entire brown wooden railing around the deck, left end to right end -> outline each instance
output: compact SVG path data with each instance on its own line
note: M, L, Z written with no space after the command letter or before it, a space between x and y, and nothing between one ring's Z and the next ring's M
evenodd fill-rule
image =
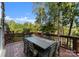
M70 49L75 53L79 53L79 37L76 36L57 35L57 34L49 34L49 33L35 33L35 32L34 33L6 33L5 42L9 40L13 41L15 37L19 37L19 39L21 38L22 40L24 35L29 35L29 34L35 34L37 36L48 38L50 40L61 41L61 47Z

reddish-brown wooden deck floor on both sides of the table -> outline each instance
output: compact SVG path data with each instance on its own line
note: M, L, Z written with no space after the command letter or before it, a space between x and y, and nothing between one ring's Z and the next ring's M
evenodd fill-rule
M5 46L6 48L6 57L25 57L23 53L23 41L10 43ZM66 50L64 48L60 48L60 56L59 57L78 57L70 50Z

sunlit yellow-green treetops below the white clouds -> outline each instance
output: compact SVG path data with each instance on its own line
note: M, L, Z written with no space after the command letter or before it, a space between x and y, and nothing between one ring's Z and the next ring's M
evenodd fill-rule
M31 32L37 32L40 29L40 25L35 23L24 23L24 24L19 24L14 21L8 22L10 31L14 31L14 33L22 33L24 29L29 29ZM27 30L26 30L27 31Z

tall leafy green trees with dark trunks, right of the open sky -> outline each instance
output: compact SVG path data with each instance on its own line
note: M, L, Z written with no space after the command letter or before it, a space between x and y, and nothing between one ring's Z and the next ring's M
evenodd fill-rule
M48 2L39 4L35 4L34 7L36 8L36 11L34 11L34 13L36 14L36 22L39 23L42 21L40 23L41 31L58 32L58 34L63 33L65 35L73 35L78 32L79 21L76 17L79 16L79 3ZM74 28L73 26L75 25L73 23L76 24L76 27ZM73 30L75 28L77 29Z

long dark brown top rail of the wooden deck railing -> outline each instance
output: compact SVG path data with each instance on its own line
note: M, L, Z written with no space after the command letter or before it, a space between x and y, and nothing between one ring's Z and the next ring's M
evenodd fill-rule
M47 36L56 36L56 37L63 37L63 38L71 38L71 39L79 39L78 36L68 36L68 35L58 35L58 34L51 34L51 33L41 33L41 32L30 32L30 33L8 33L8 34L43 34L43 35L47 35Z

